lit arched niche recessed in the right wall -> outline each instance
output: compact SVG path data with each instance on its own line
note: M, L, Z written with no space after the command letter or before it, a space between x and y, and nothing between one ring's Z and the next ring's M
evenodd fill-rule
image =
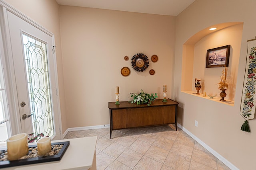
M211 27L218 29L210 31ZM218 101L220 90L217 83L222 74L222 67L206 68L207 49L213 49L224 45L231 45L230 59L228 66L228 90L227 102L225 104L234 105L236 78L240 57L240 47L242 41L242 22L228 22L211 25L190 37L183 45L182 51L182 79L181 91L194 96L203 97L206 94L217 94L214 101ZM201 79L201 95L195 95L195 78ZM210 97L206 96L206 99Z

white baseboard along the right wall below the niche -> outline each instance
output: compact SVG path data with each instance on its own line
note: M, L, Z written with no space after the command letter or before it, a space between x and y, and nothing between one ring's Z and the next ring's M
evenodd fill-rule
M206 150L208 150L211 154L213 154L216 158L218 158L221 162L223 162L226 166L228 166L228 168L230 168L231 170L239 170L236 166L234 166L231 162L229 162L228 160L226 160L226 158L224 158L223 156L221 156L218 152L216 152L215 150L213 150L211 147L209 147L208 145L206 145L203 141L201 141L198 137L196 137L195 135L193 135L190 131L188 131L186 128L184 128L182 125L178 124L178 127L180 127L180 129L182 129L182 131L184 131L185 133L187 133L188 135L190 135L190 137L192 137L195 141L197 141L200 145L202 145Z

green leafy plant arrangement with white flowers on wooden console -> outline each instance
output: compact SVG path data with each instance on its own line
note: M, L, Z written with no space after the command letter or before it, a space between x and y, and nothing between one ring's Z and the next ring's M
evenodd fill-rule
M131 97L133 97L133 100L129 101L131 103L136 103L136 104L150 104L154 102L154 100L157 98L157 93L155 94L148 94L145 93L143 90L140 90L140 93L130 93Z

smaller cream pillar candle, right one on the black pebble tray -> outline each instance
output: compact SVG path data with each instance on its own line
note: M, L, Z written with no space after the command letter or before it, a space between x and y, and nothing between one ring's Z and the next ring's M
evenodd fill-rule
M44 137L37 141L37 154L45 155L46 153L52 150L51 139L50 137Z

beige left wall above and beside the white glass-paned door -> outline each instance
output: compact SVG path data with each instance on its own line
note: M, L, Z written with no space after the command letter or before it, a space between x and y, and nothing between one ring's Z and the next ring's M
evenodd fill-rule
M4 0L39 25L54 33L57 57L57 71L60 94L62 131L66 131L66 108L62 72L62 51L60 41L59 5L55 0Z

